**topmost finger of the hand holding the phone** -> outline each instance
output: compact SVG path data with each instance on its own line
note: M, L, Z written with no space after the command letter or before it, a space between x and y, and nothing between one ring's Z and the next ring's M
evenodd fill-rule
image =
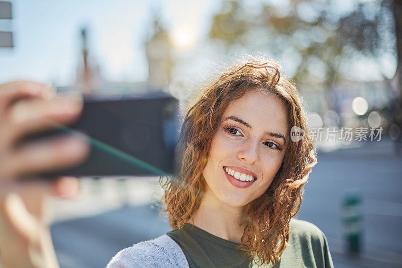
M38 97L51 99L55 95L52 87L32 81L15 81L0 85L0 114L16 99Z

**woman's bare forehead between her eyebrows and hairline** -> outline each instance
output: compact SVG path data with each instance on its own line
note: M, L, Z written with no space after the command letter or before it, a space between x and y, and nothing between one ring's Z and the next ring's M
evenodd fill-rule
M223 119L237 116L253 128L264 127L287 136L288 118L282 100L271 93L260 91L247 92L242 98L229 103Z

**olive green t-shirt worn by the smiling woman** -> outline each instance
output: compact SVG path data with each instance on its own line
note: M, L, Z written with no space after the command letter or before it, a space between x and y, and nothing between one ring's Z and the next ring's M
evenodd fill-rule
M192 267L333 267L327 238L314 224L291 219L289 241L275 266L257 266L239 243L215 236L192 224L167 233L180 245Z

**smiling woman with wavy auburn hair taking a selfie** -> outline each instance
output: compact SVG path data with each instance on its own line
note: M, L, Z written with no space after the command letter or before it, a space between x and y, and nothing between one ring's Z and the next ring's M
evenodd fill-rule
M78 115L77 103L69 117L64 113L55 118L54 111L47 111L37 118L51 117L67 123ZM18 109L12 109L13 115L18 114L15 110ZM296 88L280 75L275 63L253 60L222 74L187 110L179 139L181 169L177 178L163 182L166 211L173 230L123 249L108 267L333 266L324 234L308 222L292 219L302 201L303 186L317 162L308 135L292 141L290 129L294 126L308 134ZM53 165L42 162L41 169L71 165L82 159L87 147L77 140L69 142L76 145L75 151L70 151L71 159L63 163L54 161ZM62 142L54 141L47 144L49 148L53 146L48 156L56 145L59 150L67 150ZM31 169L20 169L29 172L38 163L34 165L29 149L25 150L28 157L22 159L27 159L24 163ZM15 185L21 170L2 175L3 184L6 181L3 177L9 177L7 181L13 182L9 184ZM62 182L66 178L58 181L53 191L59 189L58 194L64 195L62 191L72 191L72 187L62 187ZM41 203L43 193L50 191L49 186L36 187L39 194L35 197ZM20 190L23 187L18 189L21 196L26 194ZM18 217L12 219L9 207L14 202L24 208L23 202L16 202L16 195L3 196L6 201L2 201L5 204L2 207L6 210L2 212L0 226L15 233L14 239L23 241L20 249L28 252L26 263L32 263L34 255L49 267L57 265L50 239L35 235L21 238L29 233L26 230L29 228L19 226ZM38 229L48 234L45 225L37 224L40 221L32 219L32 214L25 213L35 226L40 226ZM4 244L1 240L0 252ZM13 263L12 257L5 262L3 254L0 256L3 263Z

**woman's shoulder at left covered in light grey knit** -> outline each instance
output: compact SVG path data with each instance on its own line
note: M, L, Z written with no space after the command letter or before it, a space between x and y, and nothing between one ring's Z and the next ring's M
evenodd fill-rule
M107 268L188 267L180 246L168 235L143 241L119 251Z

